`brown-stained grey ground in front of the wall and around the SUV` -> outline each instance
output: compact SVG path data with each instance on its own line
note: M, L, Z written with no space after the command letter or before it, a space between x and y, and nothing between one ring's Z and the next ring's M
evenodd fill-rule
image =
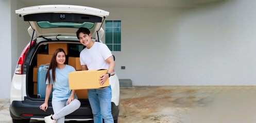
M118 121L256 122L255 95L255 86L121 88ZM0 122L11 122L8 101L0 100Z

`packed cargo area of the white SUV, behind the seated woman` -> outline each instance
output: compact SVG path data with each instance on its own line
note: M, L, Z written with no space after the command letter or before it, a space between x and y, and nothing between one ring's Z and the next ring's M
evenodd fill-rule
M35 49L30 50L31 52L34 52L28 70L27 80L27 96L29 96L31 100L44 100L45 91L41 90L41 88L46 87L45 75L40 74L39 67L47 66L47 64L49 65L54 51L58 48L64 49L66 53L65 62L67 65L74 67L76 71L81 70L79 54L84 46L79 42L58 40L56 42L52 41L36 44ZM40 77L44 78L41 79ZM88 99L87 90L78 90L76 91L76 94L78 99Z

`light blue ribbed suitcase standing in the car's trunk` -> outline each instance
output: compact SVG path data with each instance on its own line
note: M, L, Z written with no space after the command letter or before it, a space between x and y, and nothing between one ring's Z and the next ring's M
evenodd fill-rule
M41 65L38 68L38 86L37 86L37 96L38 98L45 98L45 91L46 91L46 84L45 84L45 77L47 70L49 68L49 65ZM50 93L50 97L53 97L53 89L52 92Z

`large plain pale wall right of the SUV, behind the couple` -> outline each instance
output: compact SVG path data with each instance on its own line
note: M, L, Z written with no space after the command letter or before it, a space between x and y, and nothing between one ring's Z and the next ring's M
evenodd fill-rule
M118 77L135 86L256 85L255 2L105 8L107 19L122 20L122 51L113 52Z

